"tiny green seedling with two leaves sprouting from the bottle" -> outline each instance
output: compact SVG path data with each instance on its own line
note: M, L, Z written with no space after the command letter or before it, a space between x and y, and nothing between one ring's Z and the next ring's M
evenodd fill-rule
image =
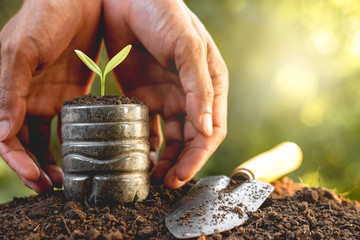
M106 75L111 72L117 65L119 65L127 57L131 49L131 45L124 47L118 54L116 54L106 65L104 73L101 71L98 65L94 63L85 53L80 50L75 50L81 61L85 63L88 68L100 76L101 81L101 96L105 95L105 78Z

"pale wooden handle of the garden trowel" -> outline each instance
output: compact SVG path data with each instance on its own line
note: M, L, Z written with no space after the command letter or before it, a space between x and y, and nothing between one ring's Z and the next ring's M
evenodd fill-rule
M293 142L283 142L238 166L231 177L242 176L270 183L297 169L301 162L300 147Z

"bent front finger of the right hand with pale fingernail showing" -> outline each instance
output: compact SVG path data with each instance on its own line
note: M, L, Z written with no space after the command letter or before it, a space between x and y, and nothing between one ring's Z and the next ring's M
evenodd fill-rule
M178 39L175 62L186 94L186 112L194 127L205 136L213 133L214 89L208 70L206 46L195 31Z

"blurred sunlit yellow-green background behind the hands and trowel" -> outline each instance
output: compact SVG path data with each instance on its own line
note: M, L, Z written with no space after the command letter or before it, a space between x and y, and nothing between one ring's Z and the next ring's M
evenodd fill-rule
M1 27L21 2L0 0ZM197 177L229 175L244 160L289 140L304 153L292 179L360 200L360 2L185 2L213 36L230 73L228 135ZM103 67L104 51L100 61ZM117 92L113 80L107 86L108 93ZM93 88L99 89L98 79ZM59 145L53 149L60 156ZM30 193L0 161L0 202Z

